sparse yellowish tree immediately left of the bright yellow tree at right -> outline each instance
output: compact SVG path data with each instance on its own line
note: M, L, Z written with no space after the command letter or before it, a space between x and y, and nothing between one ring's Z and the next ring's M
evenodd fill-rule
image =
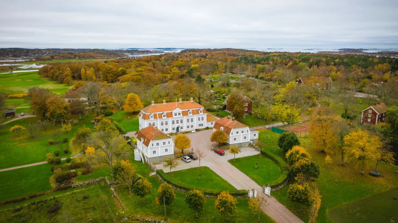
M341 154L341 165L344 165L344 154L346 153L345 136L349 133L349 127L344 121L333 123L330 135L326 139L326 153L336 155Z

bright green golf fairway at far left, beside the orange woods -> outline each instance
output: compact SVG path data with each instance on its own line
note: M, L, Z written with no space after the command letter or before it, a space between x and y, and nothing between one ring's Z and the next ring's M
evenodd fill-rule
M37 71L0 73L0 90L6 94L26 93L29 88L34 86L48 88L59 96L64 95L72 87L72 85L67 86L47 78L41 78L37 75Z

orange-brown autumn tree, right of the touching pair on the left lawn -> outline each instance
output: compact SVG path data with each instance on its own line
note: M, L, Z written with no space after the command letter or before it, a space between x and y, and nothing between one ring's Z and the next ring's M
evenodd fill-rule
M63 98L52 96L46 100L46 104L48 107L47 117L53 120L53 125L55 125L55 121L67 119L70 115L69 103L65 102Z

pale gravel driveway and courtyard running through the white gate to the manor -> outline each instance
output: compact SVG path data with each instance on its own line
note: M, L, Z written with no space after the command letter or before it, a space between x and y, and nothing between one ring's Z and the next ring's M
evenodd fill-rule
M262 194L262 187L254 182L246 174L242 173L239 169L228 163L228 160L233 159L234 155L228 152L224 156L219 156L210 149L217 145L217 142L212 143L209 137L213 131L211 129L205 131L199 131L196 133L186 134L191 138L191 147L193 151L197 148L201 152L206 154L206 157L201 160L201 166L207 166L217 173L220 177L228 181L236 189L252 190L253 188L258 192L259 196L265 196ZM174 138L175 136L172 136ZM191 152L187 149L185 152ZM242 148L242 152L236 155L236 158L244 156L252 156L259 154L258 151L253 150L249 147ZM199 167L199 160L193 160L189 163L185 163L179 160L179 166L175 170L188 169L191 167ZM156 165L156 168L163 169L168 172L170 169L163 168L162 164ZM272 194L272 193L271 193ZM268 206L263 210L269 217L274 219L277 223L298 223L302 222L296 215L289 211L285 206L279 203L274 197L267 198Z

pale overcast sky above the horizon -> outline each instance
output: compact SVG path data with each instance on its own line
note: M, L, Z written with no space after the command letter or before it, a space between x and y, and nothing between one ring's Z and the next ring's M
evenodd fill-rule
M398 47L397 0L0 0L0 47Z

